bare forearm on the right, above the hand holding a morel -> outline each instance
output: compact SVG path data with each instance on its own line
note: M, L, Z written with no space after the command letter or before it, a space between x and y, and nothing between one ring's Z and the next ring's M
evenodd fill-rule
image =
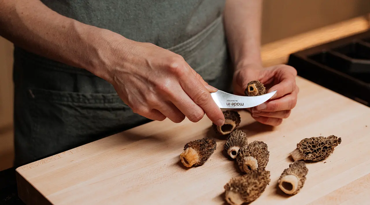
M262 0L226 0L225 31L235 68L262 64Z

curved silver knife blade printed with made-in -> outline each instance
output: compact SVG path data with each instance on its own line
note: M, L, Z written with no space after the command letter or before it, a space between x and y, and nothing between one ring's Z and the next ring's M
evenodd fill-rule
M223 92L222 90L217 90L216 92L211 93L211 96L220 108L240 109L258 106L269 100L276 91L277 90L259 96L239 96Z

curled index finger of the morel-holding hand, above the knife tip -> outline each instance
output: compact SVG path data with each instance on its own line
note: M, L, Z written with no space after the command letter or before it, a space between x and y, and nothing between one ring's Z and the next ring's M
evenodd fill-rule
M271 99L281 98L296 89L296 76L291 72L281 72L279 79L280 82L268 90L268 92L277 90Z

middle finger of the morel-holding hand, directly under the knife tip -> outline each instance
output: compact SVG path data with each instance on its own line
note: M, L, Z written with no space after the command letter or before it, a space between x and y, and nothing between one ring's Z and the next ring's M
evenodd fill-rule
M261 105L258 105L256 108L262 112L276 112L281 110L291 110L297 104L297 91L293 91L289 95L286 95L282 98L270 100Z

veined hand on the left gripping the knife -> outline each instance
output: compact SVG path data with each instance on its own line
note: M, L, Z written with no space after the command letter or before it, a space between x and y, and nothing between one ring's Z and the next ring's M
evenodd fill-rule
M206 114L221 126L225 118L213 101L208 85L181 57L151 43L112 35L103 49L104 74L118 95L141 116L175 123L185 116L198 122Z

